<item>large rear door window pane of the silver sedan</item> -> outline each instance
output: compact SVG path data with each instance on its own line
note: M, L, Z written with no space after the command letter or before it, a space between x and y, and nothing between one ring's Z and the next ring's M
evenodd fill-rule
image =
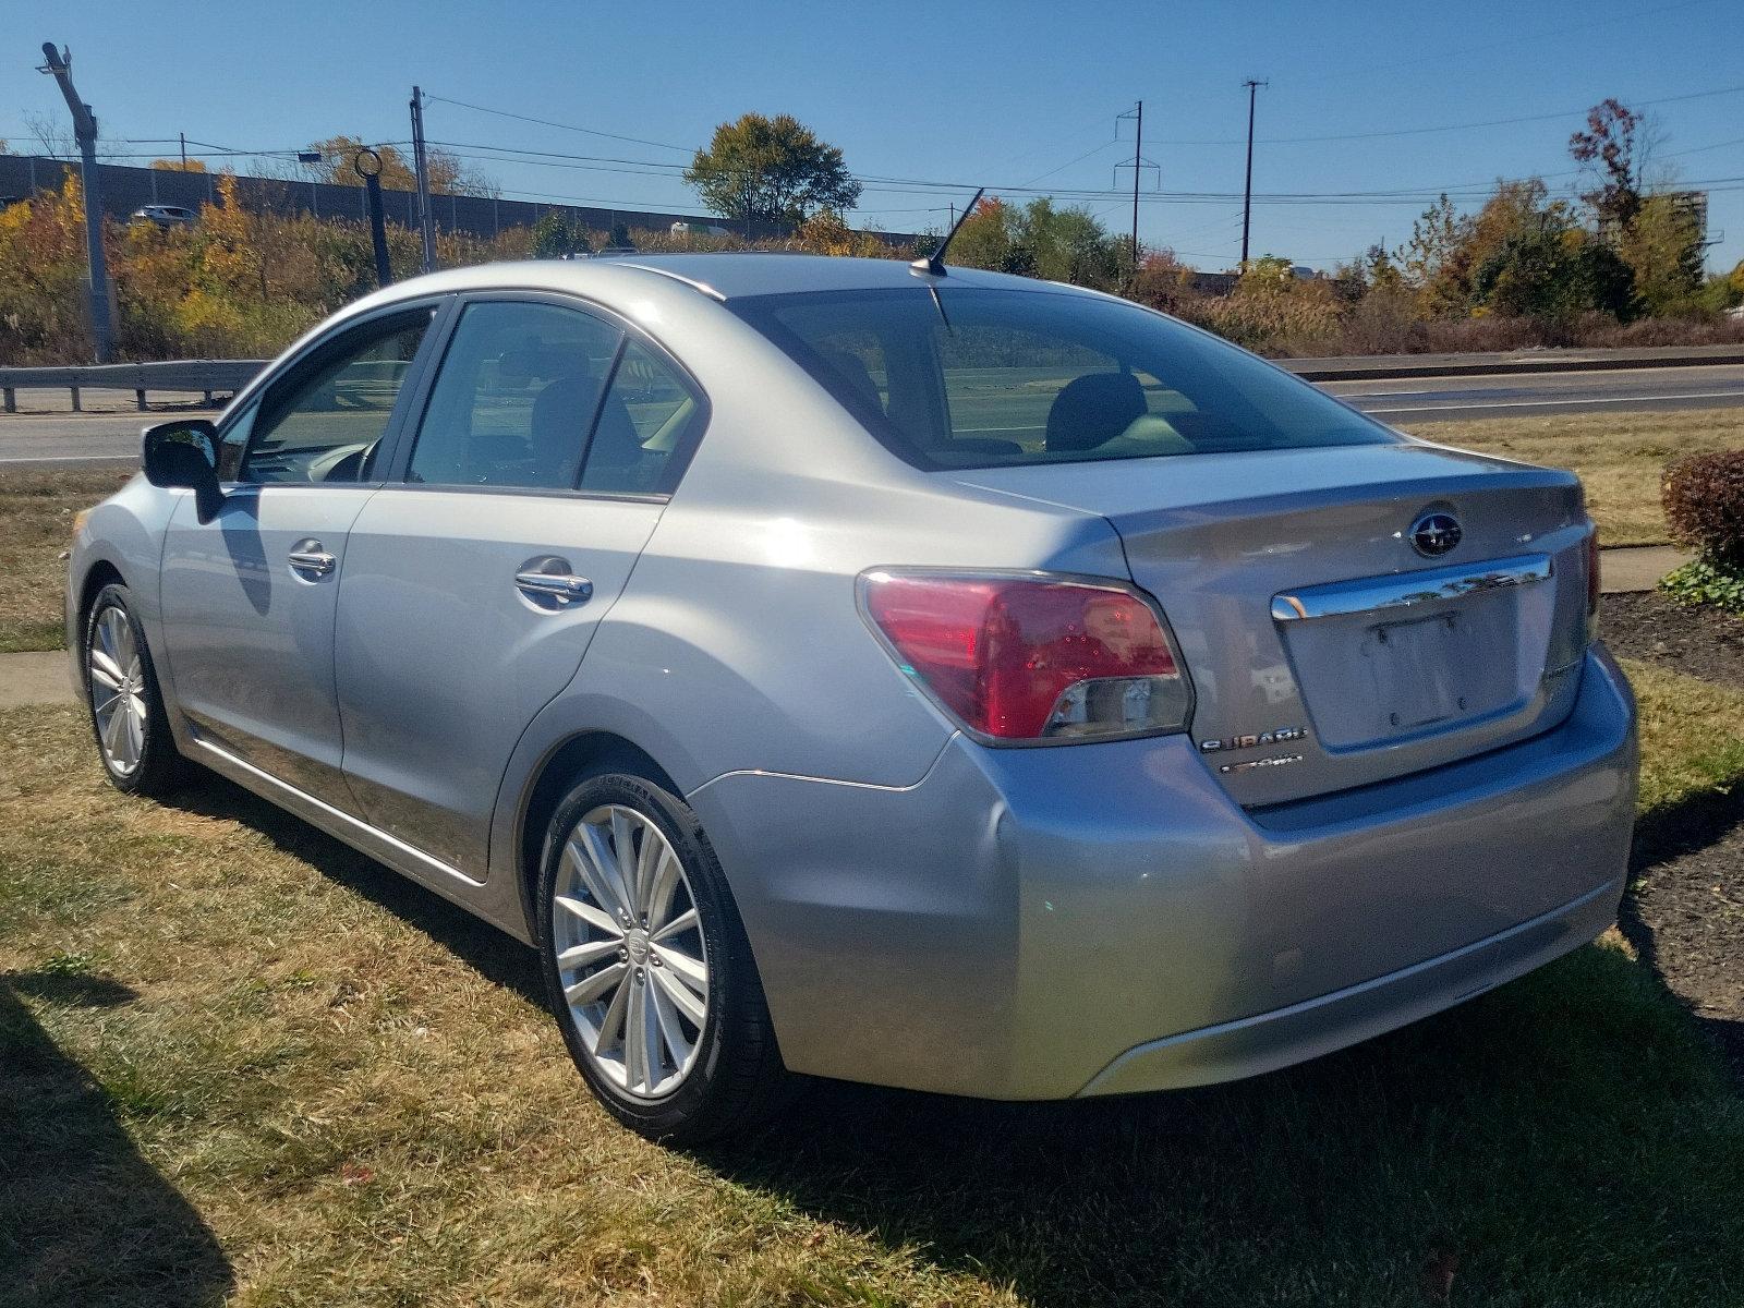
M467 305L431 389L408 480L572 490L621 338L577 309Z

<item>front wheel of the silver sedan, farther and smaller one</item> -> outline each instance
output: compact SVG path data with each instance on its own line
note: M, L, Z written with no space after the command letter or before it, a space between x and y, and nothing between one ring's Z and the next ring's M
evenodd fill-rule
M98 591L85 614L80 670L98 757L113 787L146 799L174 790L187 764L169 731L145 628L119 582Z

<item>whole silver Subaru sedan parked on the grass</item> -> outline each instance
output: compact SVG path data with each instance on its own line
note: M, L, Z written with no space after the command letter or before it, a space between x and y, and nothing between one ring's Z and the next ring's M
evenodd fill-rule
M1132 303L508 263L145 434L72 553L126 792L201 764L539 950L699 1141L799 1076L1252 1076L1592 940L1634 706L1568 473Z

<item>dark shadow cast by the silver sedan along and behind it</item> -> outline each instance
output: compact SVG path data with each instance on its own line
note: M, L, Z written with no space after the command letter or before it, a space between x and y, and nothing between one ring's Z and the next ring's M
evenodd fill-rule
M530 950L300 820L216 778L178 802L539 1001ZM1697 828L1646 835L1669 849ZM1744 1109L1652 966L1604 947L1254 1081L1067 1104L818 1083L698 1160L1045 1308L1744 1296ZM875 1277L820 1271L806 1291L882 1301Z

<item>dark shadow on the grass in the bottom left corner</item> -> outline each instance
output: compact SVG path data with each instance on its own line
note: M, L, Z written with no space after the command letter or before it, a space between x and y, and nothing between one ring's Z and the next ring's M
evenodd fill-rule
M26 998L113 1008L134 996L103 977L0 975L0 1305L220 1303L235 1277L218 1238Z

